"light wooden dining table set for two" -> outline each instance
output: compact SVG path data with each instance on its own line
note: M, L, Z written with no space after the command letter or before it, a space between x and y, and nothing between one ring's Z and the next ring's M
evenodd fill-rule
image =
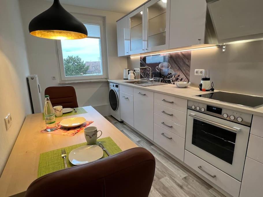
M87 113L58 117L56 122L71 117L84 117L94 121L90 126L102 131L100 138L110 136L122 151L137 147L120 130L105 119L92 106L83 107ZM42 113L27 115L12 152L0 177L0 196L23 196L27 187L37 178L40 153L85 142L83 130L74 136L40 133L46 127ZM52 184L52 183L51 183Z

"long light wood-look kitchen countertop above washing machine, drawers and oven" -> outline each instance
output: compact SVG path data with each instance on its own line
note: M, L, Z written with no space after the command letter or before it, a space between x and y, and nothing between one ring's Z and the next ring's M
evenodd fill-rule
M224 102L220 102L216 100L195 97L195 95L209 93L209 92L200 91L199 88L196 88L196 87L178 88L175 85L171 85L171 84L142 87L142 86L134 85L131 83L126 83L127 81L130 81L130 80L114 79L114 80L108 80L108 81L117 83L117 84L139 88L139 89L145 89L145 90L149 90L149 91L153 91L157 93L162 93L162 94L166 94L166 95L170 95L174 97L179 97L179 98L183 98L187 100L192 100L192 101L196 101L200 103L215 105L215 106L222 107L222 108L228 108L228 109L245 112L245 113L249 113L253 115L263 116L263 107L254 109L254 108L224 103ZM215 90L215 92L216 91L218 90Z

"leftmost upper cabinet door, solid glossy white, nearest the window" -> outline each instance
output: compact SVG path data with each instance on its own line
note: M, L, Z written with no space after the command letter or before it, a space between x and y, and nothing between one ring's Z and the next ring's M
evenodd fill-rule
M128 16L117 21L118 57L129 55L130 32L128 28Z

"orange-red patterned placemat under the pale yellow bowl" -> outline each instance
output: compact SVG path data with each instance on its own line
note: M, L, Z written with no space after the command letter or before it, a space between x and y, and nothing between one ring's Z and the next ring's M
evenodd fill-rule
M78 127L74 127L74 128L66 128L66 127L61 126L59 123L60 122L56 123L57 129L55 131L49 131L48 132L46 130L42 130L40 132L41 133L48 133L48 134L63 135L63 136L74 136L75 134L77 134L78 132L85 129L87 126L89 126L91 123L93 123L93 121L86 121L82 125L80 125Z

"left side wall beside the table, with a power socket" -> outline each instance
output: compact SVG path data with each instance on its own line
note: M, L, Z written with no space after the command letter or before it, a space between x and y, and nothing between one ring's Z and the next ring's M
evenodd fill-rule
M17 0L0 1L0 67L1 174L25 116L31 112L26 84L29 67ZM12 125L6 131L4 117L8 113Z

